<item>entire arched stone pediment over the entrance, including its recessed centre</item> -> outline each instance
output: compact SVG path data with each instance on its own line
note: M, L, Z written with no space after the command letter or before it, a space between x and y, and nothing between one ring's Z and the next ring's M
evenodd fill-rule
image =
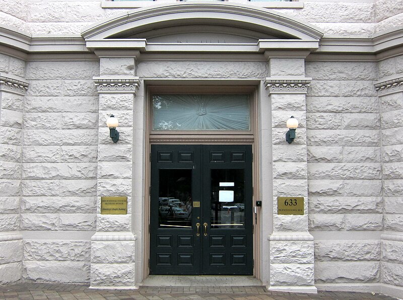
M178 2L111 17L88 27L82 36L86 41L231 43L267 39L318 41L323 33L295 18L253 6Z

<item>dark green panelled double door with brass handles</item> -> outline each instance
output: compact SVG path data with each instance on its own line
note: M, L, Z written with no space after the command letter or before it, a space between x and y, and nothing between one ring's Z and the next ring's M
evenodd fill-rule
M152 145L151 274L253 274L251 145Z

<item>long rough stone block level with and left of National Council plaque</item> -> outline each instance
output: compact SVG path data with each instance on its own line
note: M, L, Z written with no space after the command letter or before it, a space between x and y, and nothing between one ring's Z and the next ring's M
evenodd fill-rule
M32 196L21 198L21 213L94 214L95 196Z

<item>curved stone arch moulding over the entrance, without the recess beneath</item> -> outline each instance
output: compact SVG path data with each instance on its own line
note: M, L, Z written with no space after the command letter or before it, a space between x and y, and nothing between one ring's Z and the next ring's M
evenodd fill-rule
M126 38L150 29L218 25L271 34L281 39L318 41L323 33L278 12L228 3L174 3L132 10L88 27L85 40Z

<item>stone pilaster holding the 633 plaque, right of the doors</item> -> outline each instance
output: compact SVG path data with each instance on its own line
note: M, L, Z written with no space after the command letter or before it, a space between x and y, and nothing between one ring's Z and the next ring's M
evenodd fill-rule
M272 106L273 233L270 248L271 290L316 292L313 237L308 232L308 182L305 94L311 78L304 76L304 59L270 58L265 80ZM299 127L286 142L287 120ZM304 215L278 215L278 196L304 197Z

